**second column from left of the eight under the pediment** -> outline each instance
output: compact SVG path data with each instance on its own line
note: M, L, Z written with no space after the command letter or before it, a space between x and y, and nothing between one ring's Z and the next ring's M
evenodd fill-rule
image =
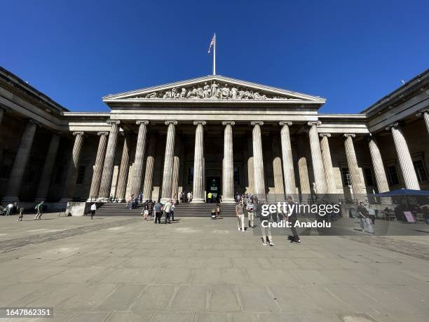
M142 189L144 150L146 147L147 125L149 121L136 121L135 123L139 126L139 134L137 135L137 147L135 149L134 164L132 165L130 194L138 196Z

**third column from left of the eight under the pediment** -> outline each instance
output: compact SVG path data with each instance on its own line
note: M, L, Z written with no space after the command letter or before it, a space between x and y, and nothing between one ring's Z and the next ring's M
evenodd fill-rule
M161 199L163 201L171 198L173 158L175 153L175 126L177 126L177 121L165 121L165 125L168 126L168 130L167 141L165 143L163 189L161 192Z

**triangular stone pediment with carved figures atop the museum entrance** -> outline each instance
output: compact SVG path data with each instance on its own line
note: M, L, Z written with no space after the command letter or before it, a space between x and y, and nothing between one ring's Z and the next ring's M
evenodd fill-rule
M161 86L107 95L104 102L118 101L301 101L323 104L324 98L257 83L213 75Z

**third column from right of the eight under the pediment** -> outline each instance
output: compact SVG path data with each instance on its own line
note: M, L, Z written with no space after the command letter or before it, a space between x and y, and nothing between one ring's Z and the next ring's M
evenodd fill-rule
M262 156L262 139L261 139L261 126L264 125L262 121L252 121L250 125L253 126L252 139L253 139L253 173L254 173L254 194L261 200L265 200L265 180L264 180L264 159Z

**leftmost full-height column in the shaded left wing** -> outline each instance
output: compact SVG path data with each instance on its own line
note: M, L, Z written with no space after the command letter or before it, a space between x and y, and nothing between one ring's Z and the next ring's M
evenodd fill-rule
M20 147L16 153L15 160L9 175L8 189L3 201L5 202L18 202L21 189L22 177L24 176L27 168L29 154L32 150L34 134L36 133L36 122L29 120L25 126L24 133L20 142Z

